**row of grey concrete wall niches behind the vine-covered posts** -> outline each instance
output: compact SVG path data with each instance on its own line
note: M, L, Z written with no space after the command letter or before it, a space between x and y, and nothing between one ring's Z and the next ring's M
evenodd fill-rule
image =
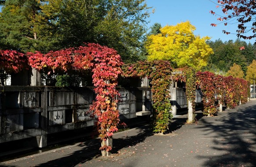
M11 82L14 85L24 83L24 77L19 78L14 77ZM24 85L28 84L25 80ZM121 120L152 113L149 80L135 82L133 85L137 87L118 88ZM37 85L37 82L31 83ZM200 90L195 93L195 102L200 103ZM187 108L182 84L170 85L170 94L173 115L177 114L177 109ZM38 147L42 148L48 145L48 134L93 126L95 118L90 116L89 107L94 99L93 87L1 86L0 143L37 138Z

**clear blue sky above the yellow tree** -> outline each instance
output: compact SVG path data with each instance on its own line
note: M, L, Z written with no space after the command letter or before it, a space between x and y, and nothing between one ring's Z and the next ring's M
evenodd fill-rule
M217 0L212 0L217 2ZM209 13L209 11L216 11L217 14L223 15L221 8L216 8L217 4L209 0L146 0L149 7L153 7L154 14L150 15L148 21L148 28L158 22L163 26L176 25L180 22L190 21L196 27L195 35L210 36L211 40L215 41L221 39L223 42L228 40L236 40L235 34L224 34L223 29L230 33L235 33L237 25L224 26L223 23L212 27L211 23L220 23L217 18ZM243 40L243 39L241 39ZM245 40L253 44L253 40Z

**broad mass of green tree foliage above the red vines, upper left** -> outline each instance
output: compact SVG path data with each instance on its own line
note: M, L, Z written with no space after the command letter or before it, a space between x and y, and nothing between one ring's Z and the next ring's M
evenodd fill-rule
M135 61L149 9L145 0L5 0L0 48L47 53L98 43Z

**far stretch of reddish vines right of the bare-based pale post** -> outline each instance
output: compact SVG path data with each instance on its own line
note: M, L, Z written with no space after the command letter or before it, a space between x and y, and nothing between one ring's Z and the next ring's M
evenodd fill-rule
M219 101L227 108L247 102L248 82L232 76L215 76L210 72L197 72L197 87L203 93L204 115L216 115L215 102Z

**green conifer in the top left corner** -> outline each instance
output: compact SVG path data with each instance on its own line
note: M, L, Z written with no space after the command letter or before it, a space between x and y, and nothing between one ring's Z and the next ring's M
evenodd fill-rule
M38 0L6 0L0 13L0 47L35 51L35 21L40 14Z

